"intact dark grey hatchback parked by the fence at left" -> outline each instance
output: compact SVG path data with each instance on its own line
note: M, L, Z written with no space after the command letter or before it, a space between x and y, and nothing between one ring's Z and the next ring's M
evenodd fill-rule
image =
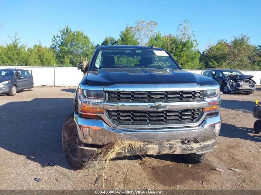
M0 69L0 94L15 95L17 91L33 91L34 81L31 70Z

